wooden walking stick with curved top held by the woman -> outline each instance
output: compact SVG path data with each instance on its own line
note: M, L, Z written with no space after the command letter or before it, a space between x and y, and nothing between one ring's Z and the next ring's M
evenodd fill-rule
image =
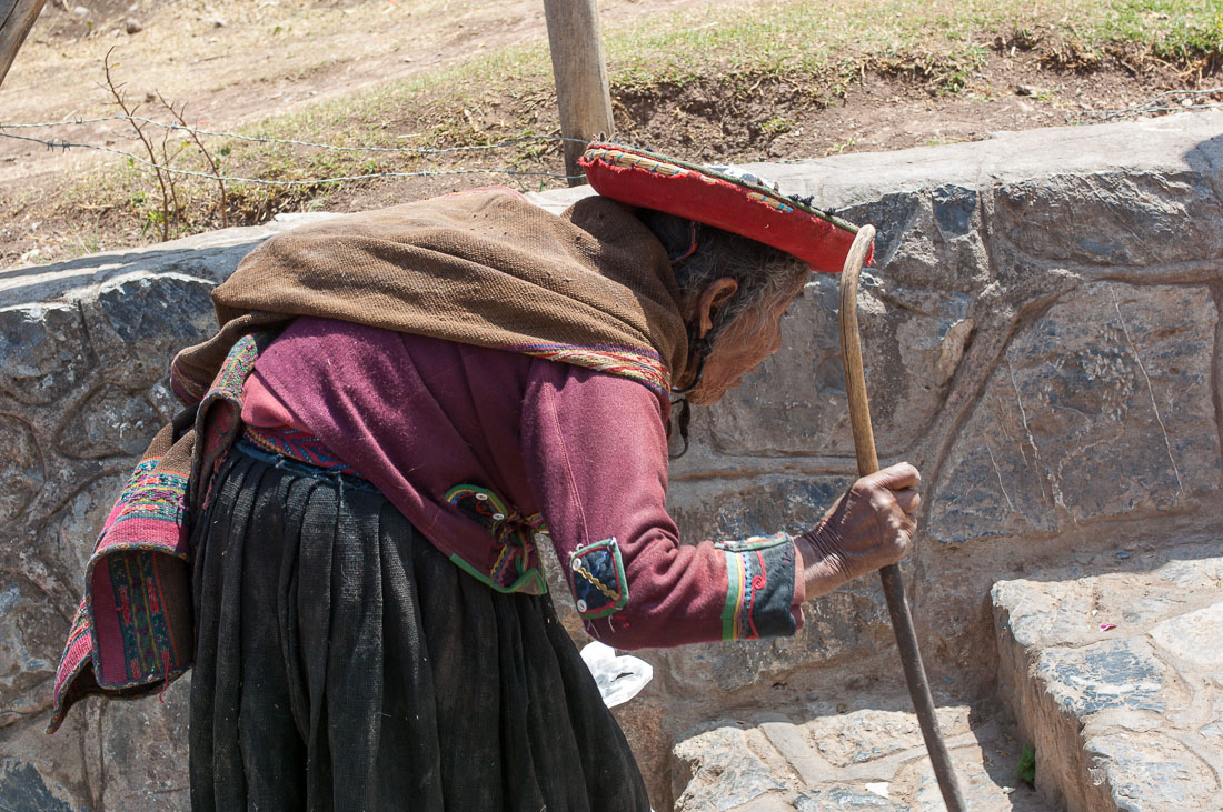
M840 280L840 339L841 361L845 365L845 391L849 394L849 419L854 427L854 451L857 453L857 473L861 476L879 470L879 458L874 452L874 431L871 429L871 404L866 398L866 375L862 371L862 347L857 337L857 277L862 263L874 242L874 226L862 226L857 238L849 249ZM934 766L938 788L943 791L943 802L950 812L964 812L964 797L955 781L951 769L951 757L943 742L934 717L934 700L929 695L929 681L917 648L917 634L914 619L905 600L905 584L900 578L900 568L888 564L879 570L883 581L883 593L888 598L888 612L892 614L892 629L896 634L896 646L900 648L900 662L909 683L909 695L917 711L921 734L926 740L926 751Z

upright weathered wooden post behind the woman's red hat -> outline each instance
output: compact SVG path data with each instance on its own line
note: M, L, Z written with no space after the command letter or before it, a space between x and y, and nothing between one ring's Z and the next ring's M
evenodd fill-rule
M610 137L614 132L612 92L594 0L543 0L543 10L548 18L560 134L582 140L600 133ZM566 175L582 173L577 166L582 150L582 144L565 142ZM581 178L569 182L570 186L581 183Z

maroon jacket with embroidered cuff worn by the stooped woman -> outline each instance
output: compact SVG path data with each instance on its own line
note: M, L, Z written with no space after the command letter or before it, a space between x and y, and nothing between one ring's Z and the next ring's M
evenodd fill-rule
M257 433L312 436L493 589L542 591L536 545L550 536L587 631L609 645L801 625L789 536L680 543L667 405L631 380L303 317L259 357L243 399Z

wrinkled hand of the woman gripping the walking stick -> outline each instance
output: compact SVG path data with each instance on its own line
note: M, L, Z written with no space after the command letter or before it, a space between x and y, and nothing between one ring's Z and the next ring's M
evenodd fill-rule
M828 509L819 525L797 538L807 598L832 592L859 575L909 553L921 504L921 474L899 463L863 476Z

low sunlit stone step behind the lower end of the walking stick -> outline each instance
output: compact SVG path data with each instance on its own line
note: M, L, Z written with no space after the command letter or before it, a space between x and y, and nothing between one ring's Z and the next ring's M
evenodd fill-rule
M970 810L1052 808L1015 777L1021 746L998 713L936 702ZM676 812L944 808L907 695L728 716L680 736L673 759Z

